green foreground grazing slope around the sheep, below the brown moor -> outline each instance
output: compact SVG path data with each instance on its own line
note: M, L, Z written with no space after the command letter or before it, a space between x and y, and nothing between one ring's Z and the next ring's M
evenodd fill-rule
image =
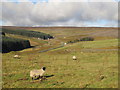
M113 44L111 44L111 42ZM100 46L96 46L97 44ZM116 46L116 39L94 42L80 42L64 48L45 53L20 53L21 59L14 59L16 52L3 54L3 87L16 88L114 88L118 87L118 57L117 51L83 52L84 49L105 48ZM93 47L96 46L96 47ZM79 48L79 50L78 50ZM66 49L68 49L66 51ZM76 50L77 51L76 51ZM75 51L74 51L75 50ZM72 55L78 60L73 61ZM29 71L33 68L46 66L45 75L54 75L39 83L32 81ZM100 79L101 75L105 78ZM28 80L20 80L20 79Z

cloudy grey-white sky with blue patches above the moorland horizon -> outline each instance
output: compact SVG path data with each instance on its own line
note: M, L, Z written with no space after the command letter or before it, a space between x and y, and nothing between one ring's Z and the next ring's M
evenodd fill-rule
M0 25L117 27L119 0L2 0Z

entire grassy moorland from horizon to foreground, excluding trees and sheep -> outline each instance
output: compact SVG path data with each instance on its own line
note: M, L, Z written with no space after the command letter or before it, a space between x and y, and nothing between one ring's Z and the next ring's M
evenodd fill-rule
M20 35L6 36L30 40L32 48L2 54L3 88L118 88L118 29L93 27L6 27L53 35L50 40ZM82 37L81 41L41 52ZM14 55L20 58L14 58ZM72 56L77 60L72 60ZM30 70L45 66L46 80L32 80Z

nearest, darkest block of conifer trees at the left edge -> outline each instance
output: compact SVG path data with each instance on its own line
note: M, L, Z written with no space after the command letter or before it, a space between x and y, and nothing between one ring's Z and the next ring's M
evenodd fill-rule
M29 40L17 39L6 36L2 36L0 44L2 45L2 53L7 53L10 51L19 51L31 47Z

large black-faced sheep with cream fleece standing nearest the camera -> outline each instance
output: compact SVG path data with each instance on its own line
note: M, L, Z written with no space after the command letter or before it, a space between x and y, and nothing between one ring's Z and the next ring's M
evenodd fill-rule
M32 80L34 77L37 77L37 79L42 78L43 74L45 73L46 67L42 67L39 70L31 70L30 71L30 77L32 77Z

